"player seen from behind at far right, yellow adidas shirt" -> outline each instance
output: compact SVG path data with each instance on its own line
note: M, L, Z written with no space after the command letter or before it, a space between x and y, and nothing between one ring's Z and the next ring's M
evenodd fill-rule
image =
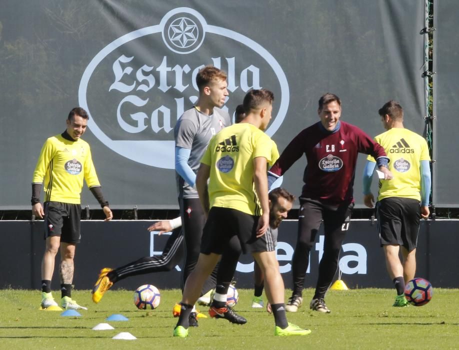
M425 139L404 128L403 109L398 102L386 102L378 113L387 131L374 140L384 147L390 159L389 170L396 175L391 181L379 181L377 228L387 272L397 292L392 306L406 306L404 286L416 271L419 216L429 215L430 156ZM363 201L370 208L374 202L370 190L374 167L374 158L368 156L363 171Z

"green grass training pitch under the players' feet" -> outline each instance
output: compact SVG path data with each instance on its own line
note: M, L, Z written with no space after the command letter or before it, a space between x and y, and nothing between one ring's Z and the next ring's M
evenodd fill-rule
M60 296L59 292L53 292ZM355 289L334 291L326 296L330 314L313 312L303 305L287 313L288 320L307 327L307 336L275 337L273 317L262 309L252 309L252 291L239 290L235 309L247 318L245 325L223 319L200 319L186 339L173 338L176 319L173 304L179 290L162 290L155 310L137 310L132 291L110 290L98 304L90 301L88 290L75 290L73 299L86 305L80 317L64 317L59 311L38 310L36 290L0 290L1 349L147 349L147 348L231 348L231 349L449 349L459 348L459 290L434 290L424 306L392 307L393 289ZM312 295L306 289L307 303ZM205 311L205 310L202 310ZM114 313L128 321L106 321ZM113 330L92 330L108 322ZM136 340L114 340L119 332L130 332Z

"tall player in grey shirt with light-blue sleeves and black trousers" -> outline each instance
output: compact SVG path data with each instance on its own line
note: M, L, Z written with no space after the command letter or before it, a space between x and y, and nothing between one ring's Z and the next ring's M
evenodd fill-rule
M196 85L198 100L192 108L183 112L174 127L175 174L185 244L182 288L197 262L205 222L195 187L199 161L210 138L231 124L229 114L220 109L228 96L226 73L207 65L197 73ZM212 289L215 281L216 269L207 279L204 289ZM190 317L192 324L197 325L194 311Z

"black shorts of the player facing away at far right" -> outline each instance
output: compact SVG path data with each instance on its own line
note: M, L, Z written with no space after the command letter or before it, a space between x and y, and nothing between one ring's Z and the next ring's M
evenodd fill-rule
M408 251L417 245L420 205L411 198L387 197L376 203L379 239L382 245L403 245Z

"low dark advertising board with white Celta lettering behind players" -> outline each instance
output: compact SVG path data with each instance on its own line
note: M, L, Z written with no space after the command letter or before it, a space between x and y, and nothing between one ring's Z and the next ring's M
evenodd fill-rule
M77 289L90 289L102 267L120 267L143 256L161 254L169 235L150 233L146 228L151 221L117 220L112 222L85 221L81 225L81 243L75 256L74 284ZM427 278L434 287L459 287L459 271L444 268L451 265L455 247L459 244L459 220L421 221L416 252L416 276ZM341 279L350 288L393 287L385 269L382 248L376 232L376 222L350 220L339 255ZM0 287L40 288L40 261L42 257L43 221L0 221L3 234L0 247ZM291 258L296 242L296 221L282 222L279 227L276 255L286 288L291 282ZM323 227L320 228L310 252L306 270L305 287L315 286L318 263L322 257L324 244ZM19 250L10 246L21 241ZM444 244L444 242L448 244ZM18 252L22 256L17 259ZM178 254L182 255L182 250ZM15 261L11 264L11 261ZM113 286L135 289L145 283L160 289L179 288L181 262L171 266L168 272L146 273L127 277ZM52 288L59 288L59 271L56 263ZM337 278L337 274L335 275ZM253 259L243 255L235 274L237 287L253 287Z

